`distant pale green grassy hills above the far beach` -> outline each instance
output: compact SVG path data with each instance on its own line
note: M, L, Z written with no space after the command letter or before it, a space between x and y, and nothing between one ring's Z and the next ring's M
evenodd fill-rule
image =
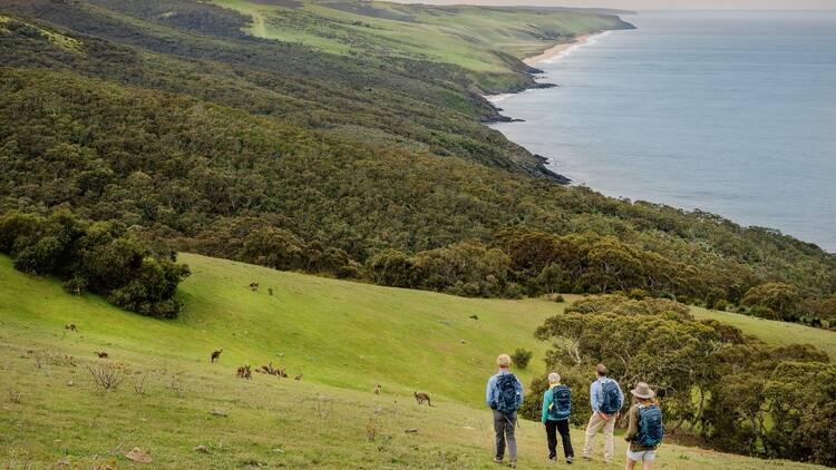
M431 7L300 0L295 8L215 0L253 18L253 36L302 42L334 53L419 57L476 71L507 71L494 50L536 55L574 35L618 28L615 17L574 11ZM560 35L557 37L556 35Z

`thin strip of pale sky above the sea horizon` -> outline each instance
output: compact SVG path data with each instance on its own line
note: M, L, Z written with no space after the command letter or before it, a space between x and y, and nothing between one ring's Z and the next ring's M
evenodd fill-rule
M397 0L404 3L527 4L625 10L836 10L836 0Z

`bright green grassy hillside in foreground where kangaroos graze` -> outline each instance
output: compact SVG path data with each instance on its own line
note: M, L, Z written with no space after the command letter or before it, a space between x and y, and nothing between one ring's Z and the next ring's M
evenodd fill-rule
M142 467L123 457L139 447L155 468L250 461L288 468L493 468L490 419L482 405L493 360L528 347L535 351L529 368L538 372L544 345L532 332L564 309L542 300L386 288L188 254L182 261L193 270L182 286L185 310L176 321L156 321L93 295L68 295L58 282L18 273L0 257L2 464ZM261 284L256 293L246 287L252 281ZM479 320L468 317L474 314ZM79 332L66 333L68 322ZM811 331L791 334L801 340ZM825 333L830 337L823 341L836 342ZM210 364L216 347L224 347L221 363ZM97 359L98 350L110 358ZM237 365L269 361L303 379L234 376ZM98 391L86 366L100 363L121 363L139 374L117 391ZM521 374L527 382L532 372ZM140 376L147 378L142 395L130 384ZM371 393L375 383L383 386L380 396ZM20 403L9 399L10 390L21 393ZM429 392L436 407L418 407L412 390ZM369 422L377 429L373 442L366 438ZM419 431L407 434L407 428ZM545 468L541 427L523 422L518 433L524 467ZM580 447L582 432L573 438ZM196 445L211 453L193 451ZM616 439L616 445L623 454L623 442ZM673 444L662 448L659 462L658 468L675 469L811 468Z

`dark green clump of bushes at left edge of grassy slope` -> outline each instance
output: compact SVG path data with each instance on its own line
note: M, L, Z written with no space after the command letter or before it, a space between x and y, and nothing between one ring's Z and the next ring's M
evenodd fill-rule
M48 218L18 213L0 217L0 253L19 271L55 275L72 294L90 291L143 315L174 317L177 284L188 267L172 253L153 253L116 223L88 224L67 212Z

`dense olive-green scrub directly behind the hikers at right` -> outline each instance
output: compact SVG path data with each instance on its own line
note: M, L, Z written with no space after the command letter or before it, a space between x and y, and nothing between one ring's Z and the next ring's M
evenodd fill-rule
M669 432L687 431L725 451L836 464L836 365L809 345L771 346L733 326L696 321L684 305L611 295L583 300L546 320L547 371L579 395L597 362L622 389L653 386ZM532 392L546 388L545 379ZM579 403L573 420L589 419ZM538 415L535 407L525 413ZM623 420L622 420L623 421Z

